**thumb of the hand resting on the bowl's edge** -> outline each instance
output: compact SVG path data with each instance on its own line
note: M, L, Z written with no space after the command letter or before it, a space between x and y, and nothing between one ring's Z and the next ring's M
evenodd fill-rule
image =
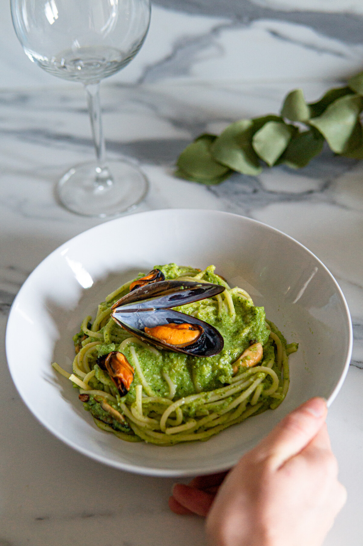
M253 452L259 460L269 459L275 470L280 468L318 434L327 411L323 398L308 400L282 419Z

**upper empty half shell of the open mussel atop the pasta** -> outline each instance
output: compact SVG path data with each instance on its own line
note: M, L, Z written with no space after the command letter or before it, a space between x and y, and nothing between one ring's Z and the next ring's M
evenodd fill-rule
M112 311L165 309L190 304L220 294L225 287L219 284L192 281L159 281L146 284L129 292L112 306Z

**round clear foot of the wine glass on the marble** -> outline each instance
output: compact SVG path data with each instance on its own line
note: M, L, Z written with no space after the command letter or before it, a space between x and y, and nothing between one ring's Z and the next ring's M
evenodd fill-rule
M133 209L146 196L147 177L126 161L107 161L110 177L100 182L96 162L77 165L58 182L57 193L63 206L82 216L107 218Z

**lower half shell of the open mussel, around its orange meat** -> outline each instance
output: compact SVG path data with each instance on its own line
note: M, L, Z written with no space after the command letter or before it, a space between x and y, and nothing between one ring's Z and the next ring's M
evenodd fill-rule
M152 309L142 311L125 311L123 307L118 307L112 312L112 318L122 328L133 334L138 339L154 345L159 349L173 351L177 353L189 354L194 357L213 357L222 351L224 341L223 337L213 326L207 322L200 321L198 318L189 316L185 313L179 313L172 309ZM169 345L149 336L145 333L145 328L155 328L164 324L192 324L198 327L200 335L196 341L184 347Z

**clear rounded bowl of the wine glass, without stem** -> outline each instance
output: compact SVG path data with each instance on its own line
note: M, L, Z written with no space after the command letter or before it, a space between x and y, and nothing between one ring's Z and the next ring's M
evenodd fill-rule
M150 19L148 0L13 0L11 6L29 59L50 74L86 85L135 57Z

